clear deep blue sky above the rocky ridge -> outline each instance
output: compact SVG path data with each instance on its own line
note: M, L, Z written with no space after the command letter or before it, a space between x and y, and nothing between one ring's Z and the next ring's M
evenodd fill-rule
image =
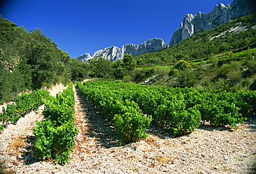
M29 31L39 28L78 57L154 37L169 43L185 14L207 13L232 0L0 0L0 14Z

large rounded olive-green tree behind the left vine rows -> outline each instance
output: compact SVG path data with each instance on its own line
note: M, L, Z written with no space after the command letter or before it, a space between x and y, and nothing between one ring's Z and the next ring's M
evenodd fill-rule
M68 80L70 56L57 48L57 44L44 36L41 30L28 32L16 40L19 55L24 57L32 70L33 88L50 86Z

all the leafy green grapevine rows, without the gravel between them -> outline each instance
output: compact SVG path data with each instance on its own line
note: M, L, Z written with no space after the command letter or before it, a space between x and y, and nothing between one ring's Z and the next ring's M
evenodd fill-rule
M148 137L149 124L169 133L187 135L201 124L228 126L246 120L256 112L256 92L226 93L221 90L194 90L192 88L166 88L141 86L122 81L77 82L86 99L116 130L120 142L129 144ZM17 97L14 104L3 108L4 125L17 120L45 104L44 120L36 121L34 135L37 160L56 159L58 164L69 162L74 149L75 101L73 84L63 93L52 97L45 90L37 90Z

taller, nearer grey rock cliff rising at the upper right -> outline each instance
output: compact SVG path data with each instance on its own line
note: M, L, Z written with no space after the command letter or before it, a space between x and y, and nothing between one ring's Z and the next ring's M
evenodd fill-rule
M256 10L255 0L234 0L227 6L220 3L209 13L187 14L183 18L181 27L174 31L169 45L172 46L196 32L210 30L221 23L244 16L254 10Z

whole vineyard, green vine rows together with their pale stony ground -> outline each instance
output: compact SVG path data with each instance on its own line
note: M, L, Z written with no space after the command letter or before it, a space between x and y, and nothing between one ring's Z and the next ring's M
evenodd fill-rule
M236 165L242 160L243 165L250 162L248 168L253 168L255 91L226 93L122 81L78 82L73 89L73 84L69 84L56 97L45 90L26 93L3 109L1 119L6 128L1 141L10 142L9 146L17 149L15 154L20 151L21 155L12 156L9 152L8 159L15 157L10 160L12 166L3 167L0 158L0 169L10 168L17 173L175 173L199 166L198 172L221 173L227 169L220 164L240 171L241 167ZM34 122L33 128L29 128L31 123L21 124L19 118L30 115L30 110L37 110L42 104L42 119L36 124L30 120ZM247 117L246 124L238 124ZM243 125L251 126L246 135ZM33 144L28 137L13 135L15 126L29 128ZM14 145L17 139L19 144ZM237 147L244 150L236 150ZM201 165L203 160L208 160L206 168Z

